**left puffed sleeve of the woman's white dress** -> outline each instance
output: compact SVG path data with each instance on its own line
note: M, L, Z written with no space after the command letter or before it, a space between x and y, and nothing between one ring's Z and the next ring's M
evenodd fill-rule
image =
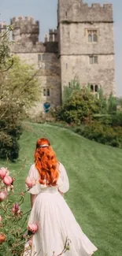
M28 173L28 177L30 177L31 179L39 180L39 173L38 173L38 170L35 168L35 165L31 165L31 168ZM40 191L41 191L40 184L36 184L35 186L31 187L31 189L29 189L28 193L32 195L38 195Z

